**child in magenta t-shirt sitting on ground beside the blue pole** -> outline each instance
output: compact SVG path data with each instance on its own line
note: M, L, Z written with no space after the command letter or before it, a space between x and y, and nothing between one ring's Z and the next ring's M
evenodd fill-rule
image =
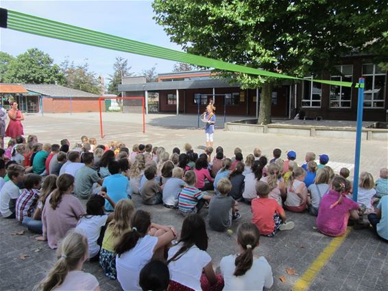
M318 230L333 237L343 235L349 218L352 218L358 226L363 226L362 223L359 223L359 204L345 197L343 193L345 191L345 179L341 176L335 176L331 187L332 189L322 198L319 206ZM356 225L354 226L354 229L361 228L364 227L356 228Z

